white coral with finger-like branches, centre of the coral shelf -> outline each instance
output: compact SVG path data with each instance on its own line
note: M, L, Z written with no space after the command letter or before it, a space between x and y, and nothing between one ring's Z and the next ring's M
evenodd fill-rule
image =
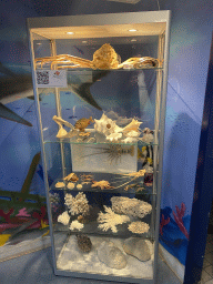
M98 222L102 223L99 229L102 231L112 230L113 233L118 233L116 225L130 222L129 216L115 214L110 207L103 206L106 213L100 212Z

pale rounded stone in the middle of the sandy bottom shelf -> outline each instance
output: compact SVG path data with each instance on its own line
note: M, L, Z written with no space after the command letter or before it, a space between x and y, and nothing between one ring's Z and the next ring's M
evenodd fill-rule
M99 260L111 268L122 270L128 264L125 255L112 242L102 242L97 252Z

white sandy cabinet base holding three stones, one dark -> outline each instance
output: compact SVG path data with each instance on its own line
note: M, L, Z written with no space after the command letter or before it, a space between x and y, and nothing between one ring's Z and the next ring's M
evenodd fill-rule
M62 271L153 278L154 243L141 237L71 234L57 260Z

